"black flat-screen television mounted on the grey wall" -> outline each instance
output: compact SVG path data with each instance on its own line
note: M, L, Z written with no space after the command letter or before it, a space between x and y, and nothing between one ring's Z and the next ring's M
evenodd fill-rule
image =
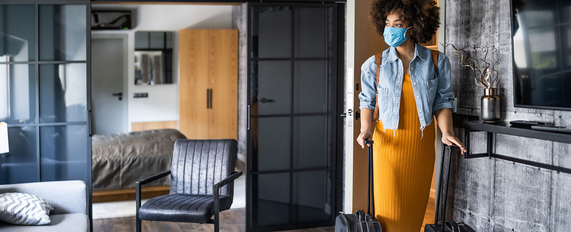
M571 0L512 0L514 107L571 111Z

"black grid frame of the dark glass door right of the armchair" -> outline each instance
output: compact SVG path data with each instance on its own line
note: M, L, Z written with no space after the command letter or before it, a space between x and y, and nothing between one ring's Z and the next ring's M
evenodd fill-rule
M247 113L247 120L248 120L248 129L247 129L247 158L246 158L246 231L247 232L262 232L262 231L275 231L275 230L293 230L293 229L303 229L303 228L310 228L310 227L320 227L320 226L332 226L335 225L335 218L337 216L337 212L341 211L342 207L343 207L343 154L344 154L344 148L343 148L343 140L344 140L344 136L343 136L343 131L344 131L344 123L343 123L343 118L340 116L341 113L344 112L344 77L345 77L345 72L344 72L344 65L345 65L345 2L334 2L333 1L319 1L319 3L316 3L317 1L305 1L305 2L284 2L284 1L266 1L266 2L248 2L246 7L247 7L247 21L248 21L248 26L247 26L247 104L248 104L248 113ZM252 97L251 97L251 62L252 60L264 60L264 59L252 59L251 57L251 49L252 49L252 34L251 34L251 7L252 6L329 6L329 7L333 7L334 11L333 11L333 18L336 18L336 22L333 25L333 34L336 35L336 38L334 40L333 43L333 56L331 59L328 60L333 60L336 61L336 68L335 70L333 70L333 79L332 79L332 91L333 93L336 95L336 97L334 97L333 99L333 103L332 103L332 110L329 113L295 113L296 116L308 116L308 115L329 115L332 117L332 121L333 121L333 126L332 126L332 145L333 148L331 149L332 151L332 156L331 156L331 166L326 167L326 168L304 168L304 169L293 169L290 168L289 170L289 178L290 178L290 182L289 182L289 188L290 191L292 191L292 184L293 184L293 180L292 180L292 175L293 172L300 172L300 171L312 171L312 170L329 170L331 171L331 176L332 176L332 190L331 190L331 194L332 194L332 209L331 209L331 218L329 219L328 222L319 222L319 223L299 223L297 225L287 225L287 226L271 226L271 227L257 227L257 228L252 228L252 218L248 218L249 215L251 215L251 209L252 209L252 186L251 186L251 181L250 178L252 177L253 174L265 174L265 173L283 173L282 171L279 172L275 172L275 171L263 171L263 172L251 172L251 168L252 167L252 161L253 161L253 157L252 157L252 131L250 128L250 119L251 118L256 118L257 116L252 116L250 113L251 110L251 105L252 105ZM293 18L292 18L292 23L293 23ZM292 27L293 30L293 27ZM293 33L291 35L292 37L294 36ZM293 42L293 39L292 39ZM292 51L293 51L293 45L292 45ZM293 54L292 54L293 55ZM321 58L320 58L321 59ZM268 58L267 60L271 60L271 58ZM280 59L281 60L281 59ZM291 60L296 60L296 58L291 58ZM300 58L300 60L311 60L311 58L307 59L307 58ZM293 68L293 66L292 66ZM292 71L292 75L293 75L293 71ZM293 78L293 76L292 76ZM293 89L293 86L292 86ZM293 104L293 94L292 94L292 104ZM294 113L291 112L289 114L286 115L264 115L266 117L268 116L293 116ZM293 124L291 125L291 127L293 127ZM292 158L292 156L290 157ZM290 163L292 164L292 161L290 160ZM290 194L290 222L291 222L291 215L293 214L293 202L291 199L291 194Z

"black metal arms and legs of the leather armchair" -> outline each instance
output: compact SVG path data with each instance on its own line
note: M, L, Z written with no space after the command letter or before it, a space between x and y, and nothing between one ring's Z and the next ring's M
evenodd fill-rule
M160 178L166 177L171 174L171 171L164 171L162 173L154 174L150 177L144 178L143 180L135 182L135 198L136 198L136 232L141 232L141 220L139 219L139 208L141 207L141 186L144 184L148 184L152 181L159 180ZM219 189L222 186L229 184L230 182L236 180L239 176L242 176L242 172L234 172L226 179L216 183L212 186L212 193L214 193L214 219L210 219L208 224L214 224L214 232L220 231L220 207L219 207ZM201 223L202 224L202 223Z

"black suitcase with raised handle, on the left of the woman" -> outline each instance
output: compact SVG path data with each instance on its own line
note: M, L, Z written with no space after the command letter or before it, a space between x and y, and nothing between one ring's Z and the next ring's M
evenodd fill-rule
M335 219L335 232L381 232L381 224L375 218L375 196L373 186L373 140L365 140L369 146L369 167L367 186L367 214L357 210L354 214L339 212ZM371 201L373 204L371 204ZM372 209L372 214L371 214Z

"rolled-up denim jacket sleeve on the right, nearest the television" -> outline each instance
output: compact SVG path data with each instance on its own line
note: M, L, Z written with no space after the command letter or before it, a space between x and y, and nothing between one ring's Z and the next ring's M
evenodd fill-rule
M443 60L441 60L441 64L438 67L439 81L436 88L436 97L432 104L432 113L443 108L451 108L452 112L455 111L454 92L452 92L450 78L450 60L443 54L441 56L443 56Z

